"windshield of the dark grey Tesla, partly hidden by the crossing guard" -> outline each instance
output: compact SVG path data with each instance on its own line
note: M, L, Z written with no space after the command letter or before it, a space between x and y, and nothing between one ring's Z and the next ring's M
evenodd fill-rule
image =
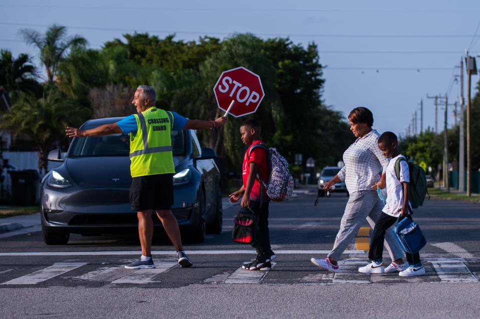
M185 155L184 131L172 131L173 156ZM125 134L76 138L71 157L128 156L130 137Z

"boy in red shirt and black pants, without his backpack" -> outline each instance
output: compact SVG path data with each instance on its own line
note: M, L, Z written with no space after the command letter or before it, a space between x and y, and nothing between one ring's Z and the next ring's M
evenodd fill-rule
M270 235L268 231L268 204L269 198L264 187L261 187L257 178L257 173L265 183L268 182L268 162L267 152L264 147L254 147L253 145L262 144L260 139L261 125L255 119L247 119L240 126L242 142L248 145L245 156L243 157L243 185L230 194L230 202L236 203L242 198L241 206L244 212L253 212L257 219L257 228L255 232L255 242L252 247L257 250L257 257L251 263L243 265L246 270L270 270L272 268L271 260L276 256L270 247Z

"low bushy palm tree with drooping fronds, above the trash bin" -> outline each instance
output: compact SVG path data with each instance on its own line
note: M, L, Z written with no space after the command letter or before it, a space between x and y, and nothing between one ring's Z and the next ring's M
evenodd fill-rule
M89 116L89 109L75 105L56 86L51 86L42 98L21 92L11 112L3 115L0 129L11 130L14 136L28 137L36 144L38 168L42 175L48 171L49 150L66 139L67 124L78 125Z

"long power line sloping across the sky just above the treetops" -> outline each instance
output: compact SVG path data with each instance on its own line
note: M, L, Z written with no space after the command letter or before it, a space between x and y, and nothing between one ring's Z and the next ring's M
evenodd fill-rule
M32 24L32 23L11 23L0 22L2 25L15 25L15 26L37 26L37 27L49 27L47 24ZM134 29L134 28L110 28L110 27L93 27L93 26L66 26L71 29L84 29L84 30L102 30L102 31L127 31L127 32L153 32L153 33L180 33L180 34L219 34L219 35L231 35L235 32L218 32L218 31L190 31L190 30L152 30L152 29ZM252 32L254 33L254 32ZM321 33L254 33L265 36L301 36L301 37L359 37L359 38L452 38L452 37L470 37L471 35L464 34L321 34Z

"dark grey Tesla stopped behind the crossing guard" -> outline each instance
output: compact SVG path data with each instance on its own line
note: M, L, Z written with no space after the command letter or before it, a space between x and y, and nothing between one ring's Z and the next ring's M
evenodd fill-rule
M81 129L114 123L122 118L89 120ZM62 158L60 150L49 160L63 162L41 185L41 219L44 240L64 245L70 233L88 235L138 232L137 213L129 203L130 139L112 134L74 138ZM205 232L222 231L220 173L215 151L201 147L195 131L172 131L175 202L172 213L182 237L203 242ZM152 214L155 232L164 232Z

